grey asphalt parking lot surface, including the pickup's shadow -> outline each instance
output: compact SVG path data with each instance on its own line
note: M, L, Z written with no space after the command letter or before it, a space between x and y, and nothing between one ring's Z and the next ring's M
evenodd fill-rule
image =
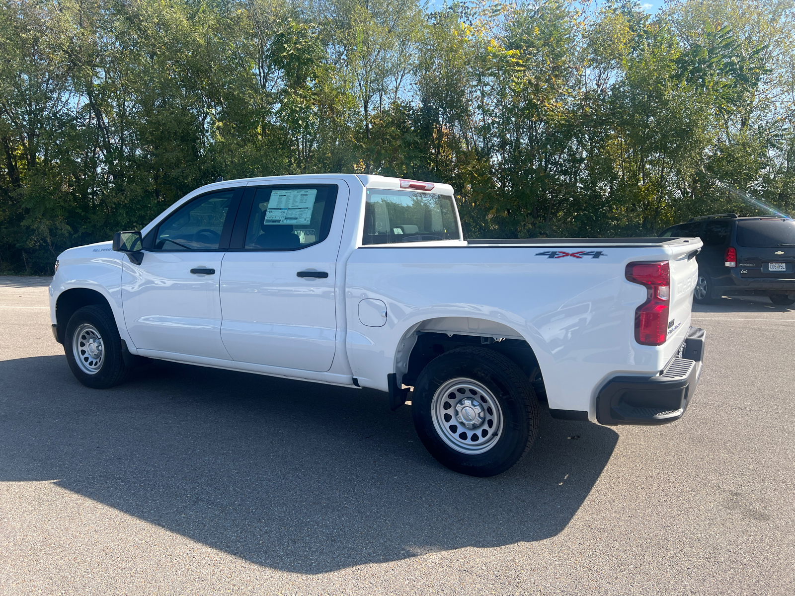
M0 277L0 594L795 593L793 308L696 306L684 419L544 410L470 478L367 389L171 363L87 389L47 284Z

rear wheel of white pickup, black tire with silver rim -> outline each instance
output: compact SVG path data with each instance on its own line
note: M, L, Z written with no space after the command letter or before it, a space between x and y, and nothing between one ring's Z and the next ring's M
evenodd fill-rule
M455 385L456 383L465 385L463 393L460 392L462 387ZM445 389L445 386L449 389ZM475 389L467 391L466 387L470 386ZM478 388L486 391L481 392ZM440 395L437 396L437 392ZM437 397L436 402L434 397ZM488 412L491 412L491 416L498 412L500 420L487 418L475 423L480 426L466 430L462 425L459 429L456 420L445 416L455 414L464 404L464 398L470 398L469 405L475 403L476 408L485 406L481 410L483 416L490 416ZM498 404L498 408L494 410L488 405L492 399ZM449 401L449 405L445 400ZM483 403L478 404L477 400ZM434 414L443 412L442 408L446 411L442 416ZM414 386L411 411L417 435L430 454L443 466L470 476L502 474L518 462L538 434L538 400L529 380L514 362L487 348L459 347L432 360L420 373ZM471 409L469 412L467 416L471 416ZM458 416L465 414L466 412L459 411ZM443 428L436 428L435 416L437 423L444 425ZM457 420L464 422L461 418ZM494 427L491 427L490 420L494 421ZM490 424L489 428L487 423ZM451 430L449 435L447 429ZM456 439L455 433L458 430L461 433L458 435L459 439ZM475 436L478 434L483 435L482 440L480 436ZM469 443L470 439L466 437L460 439L461 435L467 435L471 437L471 441L478 443ZM462 451L486 447L487 451L482 453Z

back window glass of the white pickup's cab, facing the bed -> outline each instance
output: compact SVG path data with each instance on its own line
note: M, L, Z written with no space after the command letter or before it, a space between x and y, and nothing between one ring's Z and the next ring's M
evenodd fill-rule
M460 240L452 196L368 189L362 244Z

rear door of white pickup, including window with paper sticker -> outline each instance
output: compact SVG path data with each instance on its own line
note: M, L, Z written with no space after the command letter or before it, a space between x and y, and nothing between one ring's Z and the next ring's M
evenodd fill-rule
M221 337L233 360L332 367L347 194L344 183L246 189L221 271Z

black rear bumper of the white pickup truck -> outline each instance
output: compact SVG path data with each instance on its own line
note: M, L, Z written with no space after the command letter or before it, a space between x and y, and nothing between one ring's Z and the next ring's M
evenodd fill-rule
M681 358L657 377L614 377L596 397L599 424L668 424L684 416L704 362L703 329L690 327Z

